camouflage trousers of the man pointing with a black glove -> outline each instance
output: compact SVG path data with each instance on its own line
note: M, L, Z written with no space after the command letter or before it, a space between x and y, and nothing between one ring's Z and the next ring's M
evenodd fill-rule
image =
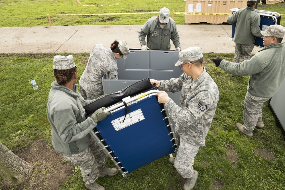
M270 98L260 98L252 96L249 93L245 95L245 103L243 106L243 126L246 130L253 131L258 117L262 117L263 103Z

